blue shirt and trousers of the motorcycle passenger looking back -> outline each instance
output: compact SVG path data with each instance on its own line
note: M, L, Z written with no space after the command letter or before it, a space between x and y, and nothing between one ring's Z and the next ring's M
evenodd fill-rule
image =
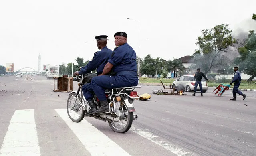
M113 65L111 70L116 74L93 77L91 81L100 101L106 100L105 89L138 85L136 53L128 43L115 48L108 62Z

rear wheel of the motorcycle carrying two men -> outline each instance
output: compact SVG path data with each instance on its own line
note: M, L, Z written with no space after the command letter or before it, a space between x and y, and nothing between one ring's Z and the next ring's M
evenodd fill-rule
M119 111L121 111L122 117L119 121L109 121L109 126L114 132L118 133L125 133L127 132L130 128L131 125L133 124L133 113L128 111L127 106L125 105L125 101L121 100Z

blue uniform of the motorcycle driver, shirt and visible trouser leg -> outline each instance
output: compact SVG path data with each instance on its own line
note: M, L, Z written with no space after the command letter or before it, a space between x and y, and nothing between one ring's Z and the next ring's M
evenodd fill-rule
M101 51L95 53L93 59L79 71L79 75L90 73L95 69L97 69L97 75L101 74L112 53L112 50L107 47L103 47ZM93 88L91 83L83 85L82 91L87 101L93 98Z

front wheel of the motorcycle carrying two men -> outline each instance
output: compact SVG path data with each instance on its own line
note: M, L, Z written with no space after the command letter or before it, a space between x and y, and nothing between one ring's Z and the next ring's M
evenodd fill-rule
M79 104L81 98L75 98L76 93L71 93L67 100L67 113L73 122L80 122L85 117L85 109Z

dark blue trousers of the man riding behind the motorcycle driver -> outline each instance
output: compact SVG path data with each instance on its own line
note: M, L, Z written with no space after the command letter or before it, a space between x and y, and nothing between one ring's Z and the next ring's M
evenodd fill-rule
M93 77L91 86L99 101L106 100L105 89L131 87L138 85L136 75L102 75Z

